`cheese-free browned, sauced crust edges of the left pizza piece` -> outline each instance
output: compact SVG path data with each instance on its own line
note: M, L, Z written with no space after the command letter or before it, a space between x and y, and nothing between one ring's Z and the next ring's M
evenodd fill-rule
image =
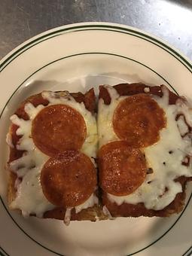
M56 95L63 96L66 95L66 92L56 92ZM87 93L70 93L69 94L73 99L75 99L76 102L84 104L87 111L90 111L93 115L95 115L96 111L96 97L94 90L91 89L87 91ZM23 119L23 120L29 120L28 114L26 114L26 111L24 109L26 103L32 103L33 106L38 107L39 105L46 106L49 102L47 99L44 99L41 93L36 94L34 96L30 96L28 99L26 99L24 102L22 102L17 108L17 111L15 111L14 114L17 115L17 117ZM11 206L11 203L14 202L14 200L17 197L17 186L15 186L15 183L17 181L17 174L15 172L11 171L11 163L14 160L20 159L20 157L25 154L25 151L18 150L16 147L19 139L21 136L18 136L16 131L18 129L18 126L14 123L11 123L11 126L9 128L8 132L8 144L10 149L10 157L8 160L8 172L9 172L9 181L8 181L8 204ZM94 194L97 194L98 192L95 191ZM20 211L20 209L18 209ZM21 211L20 211L21 212ZM34 215L31 213L30 215ZM61 206L55 206L54 209L50 209L47 212L44 212L44 215L41 216L42 218L55 218L59 220L63 220L66 215L66 208ZM72 209L71 211L71 220L90 220L90 221L96 221L97 219L105 219L106 216L102 212L101 206L99 206L99 203L95 203L92 207L88 207L87 209L82 209L80 212L76 213L75 209Z

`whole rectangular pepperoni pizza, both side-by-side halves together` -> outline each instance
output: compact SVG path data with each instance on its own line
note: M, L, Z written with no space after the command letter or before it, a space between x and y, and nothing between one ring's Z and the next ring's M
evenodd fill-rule
M69 221L181 212L192 178L192 111L164 85L43 91L11 116L8 205Z

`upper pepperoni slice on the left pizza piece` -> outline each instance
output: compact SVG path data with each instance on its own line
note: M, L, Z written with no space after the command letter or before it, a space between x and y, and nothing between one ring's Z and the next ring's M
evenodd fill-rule
M84 117L68 105L43 108L32 122L35 145L50 157L66 150L79 150L86 133Z

